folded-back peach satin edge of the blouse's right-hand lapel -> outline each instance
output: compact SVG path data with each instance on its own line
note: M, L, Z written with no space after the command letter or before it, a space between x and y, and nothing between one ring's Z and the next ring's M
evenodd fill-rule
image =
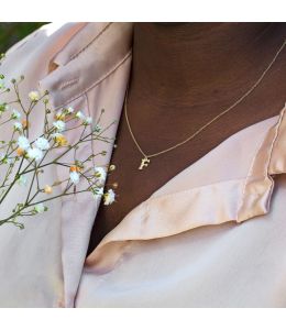
M92 272L112 270L131 241L175 235L202 226L238 223L270 211L274 180L271 175L286 172L284 153L272 158L286 139L285 107L255 153L244 178L219 182L175 194L151 197L133 209L87 257ZM284 162L285 165L285 162Z

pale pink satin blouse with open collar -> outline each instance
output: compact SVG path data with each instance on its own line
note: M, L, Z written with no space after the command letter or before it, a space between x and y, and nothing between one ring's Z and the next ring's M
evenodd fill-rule
M105 108L105 124L120 119L131 46L131 23L48 24L13 46L0 70L24 74L23 91L48 89L55 109L97 117ZM24 231L2 226L0 306L285 307L285 111L231 135L176 175L87 258L99 206L89 195L53 201ZM32 119L32 134L42 117ZM116 133L117 124L109 136ZM102 144L86 145L80 155L91 147ZM112 145L103 148L101 162L109 163Z

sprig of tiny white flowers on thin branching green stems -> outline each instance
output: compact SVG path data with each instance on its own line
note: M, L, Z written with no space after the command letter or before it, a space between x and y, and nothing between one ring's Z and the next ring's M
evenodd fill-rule
M0 76L0 97L7 92L14 94L15 97L15 100L9 103L0 102L0 132L3 125L11 125L10 139L0 141L0 226L12 223L23 229L24 226L19 219L45 212L51 200L68 195L89 193L95 198L102 197L105 205L112 204L116 194L113 189L105 191L103 184L107 174L114 169L114 165L109 167L95 165L95 157L105 155L105 151L79 160L77 150L88 141L110 143L112 139L105 136L105 132L113 122L107 128L101 128L100 119L103 110L95 123L90 117L73 108L55 112L50 107L48 91L31 91L28 96L29 107L25 108L20 96L20 85L23 80L23 76L12 79L8 88L4 76ZM34 107L40 103L44 111L44 129L36 139L31 139L30 119ZM73 143L69 143L65 134L70 130L79 130L78 139ZM53 152L55 150L56 153ZM64 161L67 153L73 153L72 163ZM61 182L43 183L41 176L48 166L64 167L66 178ZM77 185L82 180L86 182L85 188L78 189ZM21 202L15 202L11 213L3 217L1 206L12 189L19 186L24 187L25 198Z

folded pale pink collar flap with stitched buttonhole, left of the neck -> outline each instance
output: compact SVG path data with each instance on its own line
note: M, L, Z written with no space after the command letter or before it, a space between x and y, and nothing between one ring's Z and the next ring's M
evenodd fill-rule
M53 58L58 68L40 81L53 106L67 106L105 80L130 56L131 40L132 23L90 23L80 30Z

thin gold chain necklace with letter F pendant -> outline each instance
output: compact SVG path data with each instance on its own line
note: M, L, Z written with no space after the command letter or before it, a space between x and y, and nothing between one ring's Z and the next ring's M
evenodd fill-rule
M142 170L145 167L147 167L151 163L151 158L160 156L162 154L165 154L167 152L170 152L175 148L177 148L178 146L189 142L190 140L193 140L195 136L197 136L201 131L204 131L206 128L208 128L211 123L213 123L215 121L217 121L219 118L221 118L223 114L228 113L230 110L232 110L234 107L237 107L239 103L241 103L258 85L260 82L263 80L264 76L267 74L267 72L272 68L273 64L275 63L276 58L278 57L278 55L280 54L280 52L283 51L284 46L286 45L286 40L283 42L282 46L279 47L279 50L277 51L277 53L275 54L275 56L273 57L272 62L267 65L267 67L265 68L265 70L262 73L262 75L258 77L258 79L254 82L254 85L245 92L234 103L232 103L230 107L228 107L227 109L224 109L222 112L220 112L218 116L216 116L213 119L211 119L209 122L207 122L205 125L202 125L200 129L198 129L195 133L193 133L190 136L188 136L186 140L170 146L167 147L165 150L162 150L157 153L154 154L148 154L145 153L142 147L140 146L140 144L138 143L138 140L135 139L135 135L131 129L130 125L130 121L129 121L129 117L128 117L128 106L127 106L127 100L128 100L128 91L129 91L129 87L127 88L127 92L125 92L125 99L124 99L124 113L125 113L125 119L127 119L127 123L128 123L128 129L130 131L131 138L133 140L133 142L135 143L139 152L142 154L142 160L141 160L141 164L139 166L139 169Z

